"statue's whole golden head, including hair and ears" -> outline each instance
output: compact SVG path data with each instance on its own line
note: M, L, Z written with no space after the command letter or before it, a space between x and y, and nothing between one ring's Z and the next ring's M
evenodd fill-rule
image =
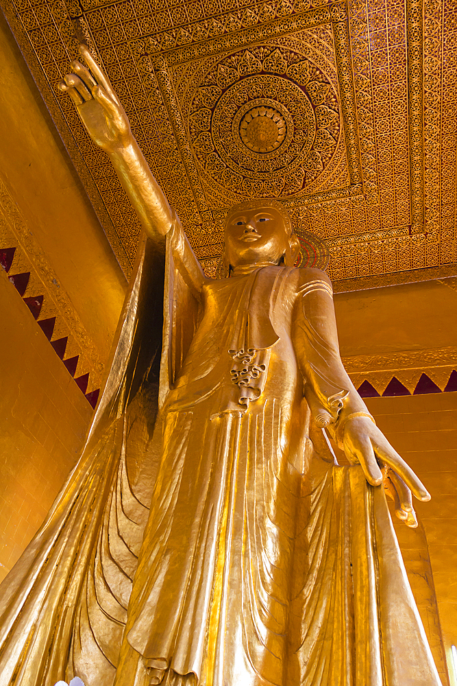
M276 264L293 267L300 243L291 217L277 200L252 200L235 205L225 220L223 268Z

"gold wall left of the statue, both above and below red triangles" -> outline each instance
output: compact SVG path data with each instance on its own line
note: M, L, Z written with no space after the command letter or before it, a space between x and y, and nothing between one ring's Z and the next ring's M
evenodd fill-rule
M0 251L30 272L51 342L99 386L127 285L0 13ZM0 580L75 464L92 407L0 268ZM90 355L88 355L90 351ZM90 388L91 390L91 388Z

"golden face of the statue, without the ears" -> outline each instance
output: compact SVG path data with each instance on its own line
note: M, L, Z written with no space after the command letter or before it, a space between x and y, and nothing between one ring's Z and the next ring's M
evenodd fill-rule
M256 262L277 264L290 249L282 216L273 207L241 210L225 226L225 260L232 267Z

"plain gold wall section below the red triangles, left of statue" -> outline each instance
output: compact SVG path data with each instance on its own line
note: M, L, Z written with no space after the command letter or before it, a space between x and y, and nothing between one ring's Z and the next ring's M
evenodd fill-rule
M92 408L0 268L0 580L77 460Z

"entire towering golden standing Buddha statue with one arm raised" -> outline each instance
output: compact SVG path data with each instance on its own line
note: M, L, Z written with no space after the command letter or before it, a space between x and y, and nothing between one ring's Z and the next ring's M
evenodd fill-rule
M386 505L414 526L430 496L343 368L328 276L259 200L206 278L81 51L62 91L144 239L82 456L1 587L0 685L438 686Z

